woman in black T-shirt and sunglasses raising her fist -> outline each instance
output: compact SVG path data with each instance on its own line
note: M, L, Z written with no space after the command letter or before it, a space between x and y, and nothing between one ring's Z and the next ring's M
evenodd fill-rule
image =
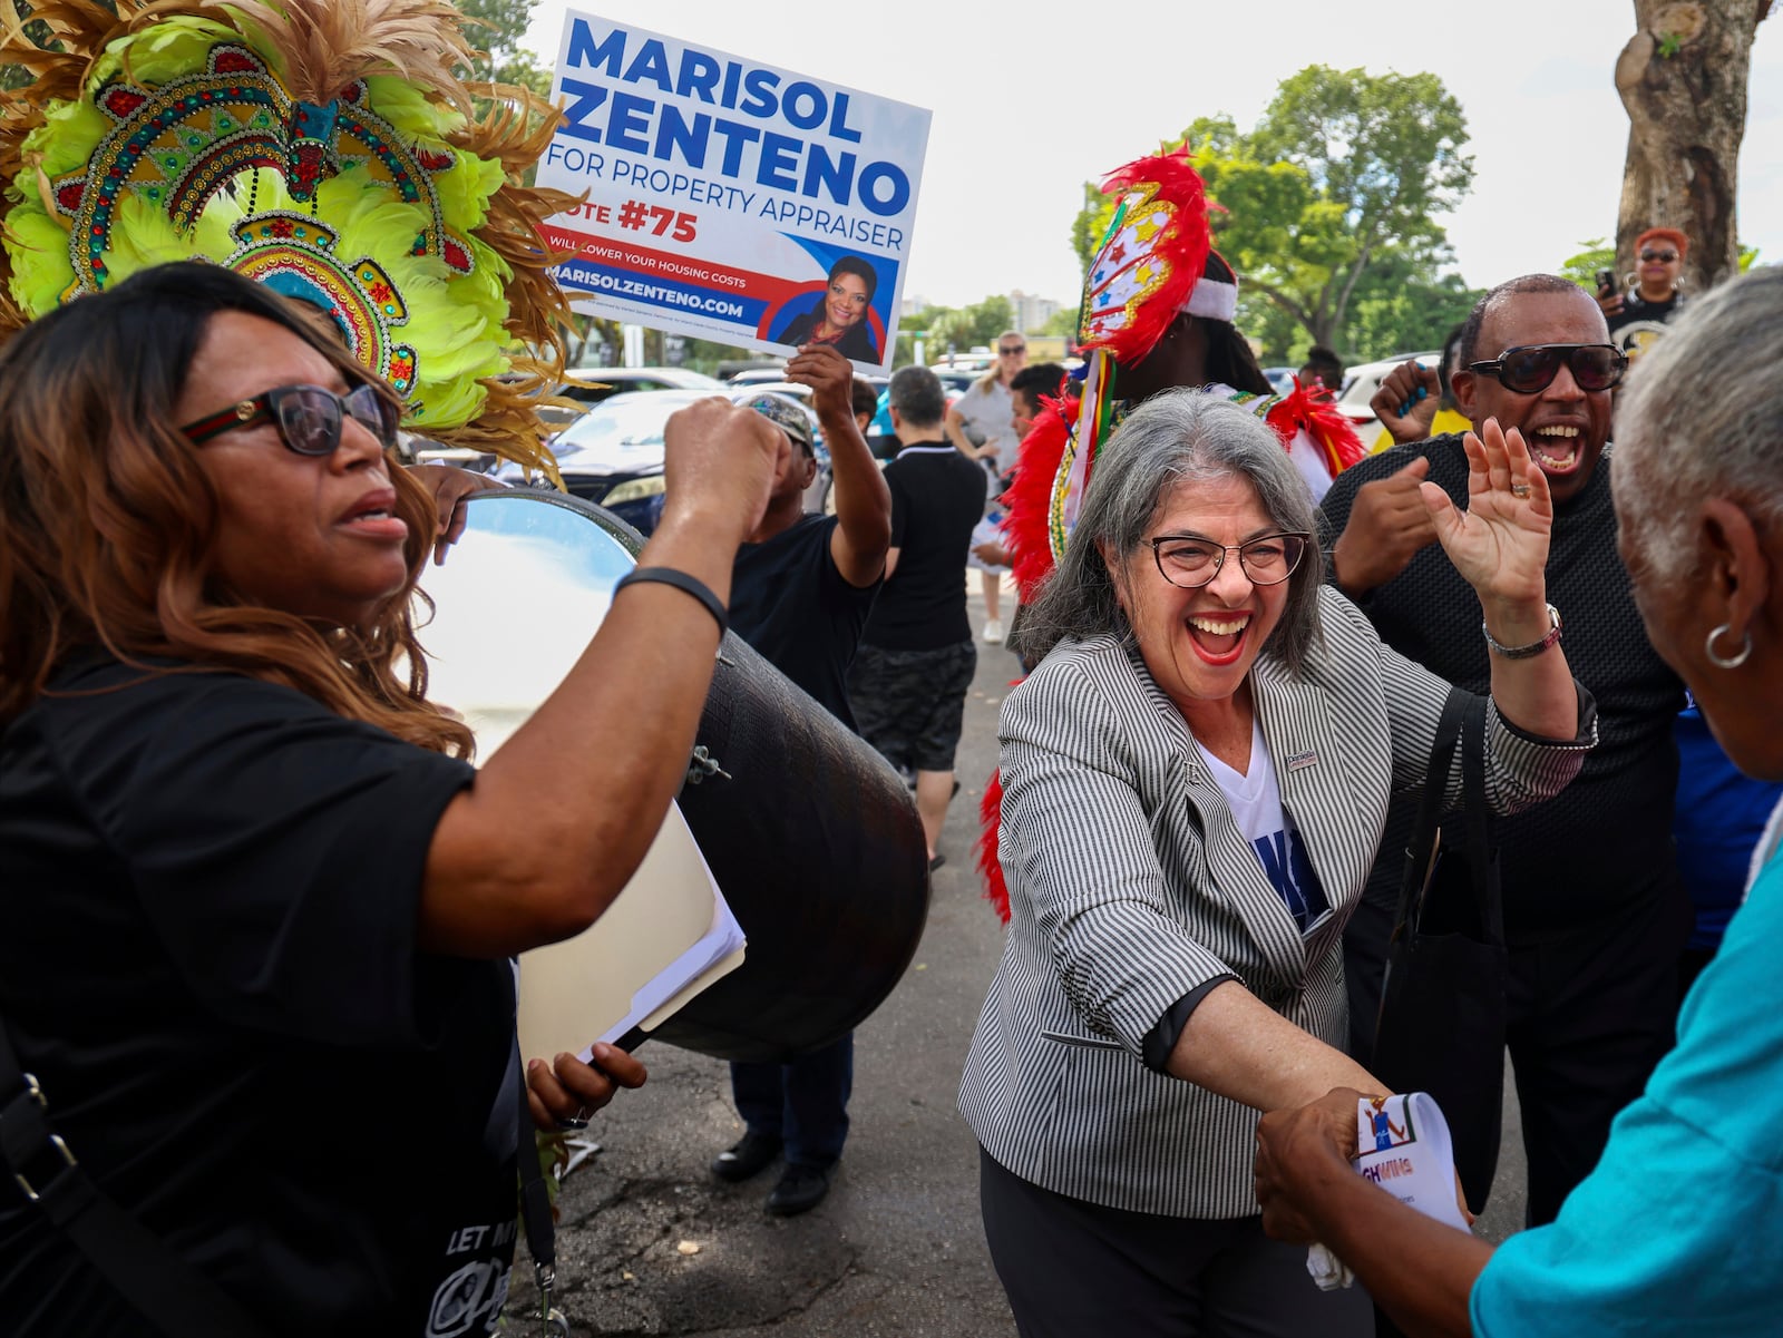
M70 1183L266 1333L485 1333L522 1105L551 1126L644 1080L596 1046L522 1087L506 959L642 861L785 436L722 401L670 420L642 579L472 771L426 698L435 511L394 428L221 265L0 353L0 1028L41 1094L0 1090L37 1195L4 1178L9 1334L144 1331L62 1229Z

